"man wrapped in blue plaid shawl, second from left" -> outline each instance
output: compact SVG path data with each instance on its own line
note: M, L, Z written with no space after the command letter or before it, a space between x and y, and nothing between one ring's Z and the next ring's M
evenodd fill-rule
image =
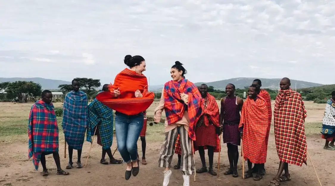
M79 90L80 82L78 79L72 80L72 88L73 90L65 95L63 103L62 127L65 141L69 146L69 164L66 169L72 169L73 149L78 152L77 168L83 167L80 157L88 125L87 95Z

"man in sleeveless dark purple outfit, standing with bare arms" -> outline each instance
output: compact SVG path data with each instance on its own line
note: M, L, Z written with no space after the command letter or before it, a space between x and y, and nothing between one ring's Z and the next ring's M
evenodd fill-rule
M239 149L241 145L241 136L239 131L240 111L243 107L243 99L235 96L235 85L226 86L227 96L221 99L220 124L223 123L223 143L227 143L229 169L224 175L230 175L234 178L239 177L237 164L239 161Z

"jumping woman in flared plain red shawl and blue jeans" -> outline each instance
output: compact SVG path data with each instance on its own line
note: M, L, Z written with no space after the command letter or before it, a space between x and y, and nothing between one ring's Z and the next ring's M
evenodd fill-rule
M124 69L114 80L110 92L102 92L96 99L115 112L115 130L118 150L127 164L125 179L139 172L137 140L143 127L143 112L151 105L154 94L148 92L145 60L141 56L127 55Z

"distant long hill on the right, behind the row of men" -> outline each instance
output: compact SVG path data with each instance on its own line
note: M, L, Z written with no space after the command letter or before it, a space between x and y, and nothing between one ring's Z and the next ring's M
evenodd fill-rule
M207 84L208 86L213 86L215 89L223 90L225 89L228 83L232 83L235 85L236 88L244 88L246 86L250 86L254 79L260 79L262 81L262 88L269 88L269 89L278 89L278 85L281 79L266 79L266 78L232 78L227 80L221 81L214 81L214 82L198 82L195 85L199 86L203 83ZM312 83L307 81L298 81L298 80L291 80L291 87L295 88L307 88L307 87L315 87L315 86L322 86L319 83ZM163 85L152 85L150 86L151 91L160 91L163 88Z

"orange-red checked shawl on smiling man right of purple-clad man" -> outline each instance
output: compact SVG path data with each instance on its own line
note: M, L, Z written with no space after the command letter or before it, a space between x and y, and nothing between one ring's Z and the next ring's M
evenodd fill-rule
M268 107L258 96L256 101L249 96L243 103L239 127L243 127L243 155L252 163L265 163L268 138Z

